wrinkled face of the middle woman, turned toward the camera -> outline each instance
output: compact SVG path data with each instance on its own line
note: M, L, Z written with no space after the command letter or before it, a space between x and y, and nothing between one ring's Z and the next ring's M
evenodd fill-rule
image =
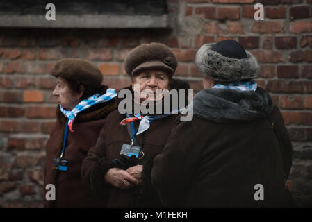
M136 92L134 87L135 84L140 86L140 99L147 99L146 94L141 92L145 89L151 90L154 96L149 96L149 99L156 99L156 90L157 89L168 89L169 87L169 76L164 71L160 70L146 70L142 71L140 74L133 76L132 78L132 89ZM145 91L146 92L146 91ZM154 98L153 98L154 97Z

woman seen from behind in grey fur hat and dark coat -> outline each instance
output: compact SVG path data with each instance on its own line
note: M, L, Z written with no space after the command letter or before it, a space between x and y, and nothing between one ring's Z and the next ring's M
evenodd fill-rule
M195 57L204 89L179 121L151 180L171 207L285 207L292 145L277 106L257 87L259 65L233 40Z

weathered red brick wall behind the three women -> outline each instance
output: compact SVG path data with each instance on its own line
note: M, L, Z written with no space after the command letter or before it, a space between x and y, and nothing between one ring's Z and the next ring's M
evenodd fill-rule
M254 21L255 3L265 6ZM163 42L179 59L176 77L198 92L199 46L233 39L261 62L258 85L279 106L293 141L290 173L297 203L312 206L312 1L167 0L174 28L0 28L0 205L42 207L44 144L55 121L49 70L60 58L92 60L104 83L129 85L122 61L133 47Z

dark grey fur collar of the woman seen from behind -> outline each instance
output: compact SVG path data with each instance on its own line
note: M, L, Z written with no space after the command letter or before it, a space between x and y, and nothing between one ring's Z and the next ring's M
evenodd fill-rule
M260 87L256 92L203 89L193 99L194 114L217 123L265 118L273 108L270 95Z

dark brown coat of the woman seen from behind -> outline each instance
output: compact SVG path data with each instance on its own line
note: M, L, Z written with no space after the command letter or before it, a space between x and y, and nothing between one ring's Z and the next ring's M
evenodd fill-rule
M252 114L256 109L270 110L272 101L268 94L259 88L257 92L263 98L253 92L252 95L244 94L243 102L233 96L233 90L226 90L230 89L224 89L224 93L219 91L220 94L206 91L209 92L204 95L207 100L204 96L202 101L195 99L197 108L199 102L204 105L201 110L195 110L192 121L177 120L163 153L155 157L152 184L163 203L170 207L286 206L284 179L291 167L292 146L279 109L273 106L270 119L281 137L280 148L284 156L268 119L259 116L248 121L239 120L239 114L248 107ZM224 96L226 93L229 93L228 97ZM211 101L208 101L209 95ZM253 99L249 100L248 96ZM224 101L231 101L231 104ZM238 110L226 110L234 107L234 103L238 104L235 106ZM215 113L213 109L208 110L214 105ZM230 120L232 114L236 120ZM264 201L254 199L257 184L264 187Z

